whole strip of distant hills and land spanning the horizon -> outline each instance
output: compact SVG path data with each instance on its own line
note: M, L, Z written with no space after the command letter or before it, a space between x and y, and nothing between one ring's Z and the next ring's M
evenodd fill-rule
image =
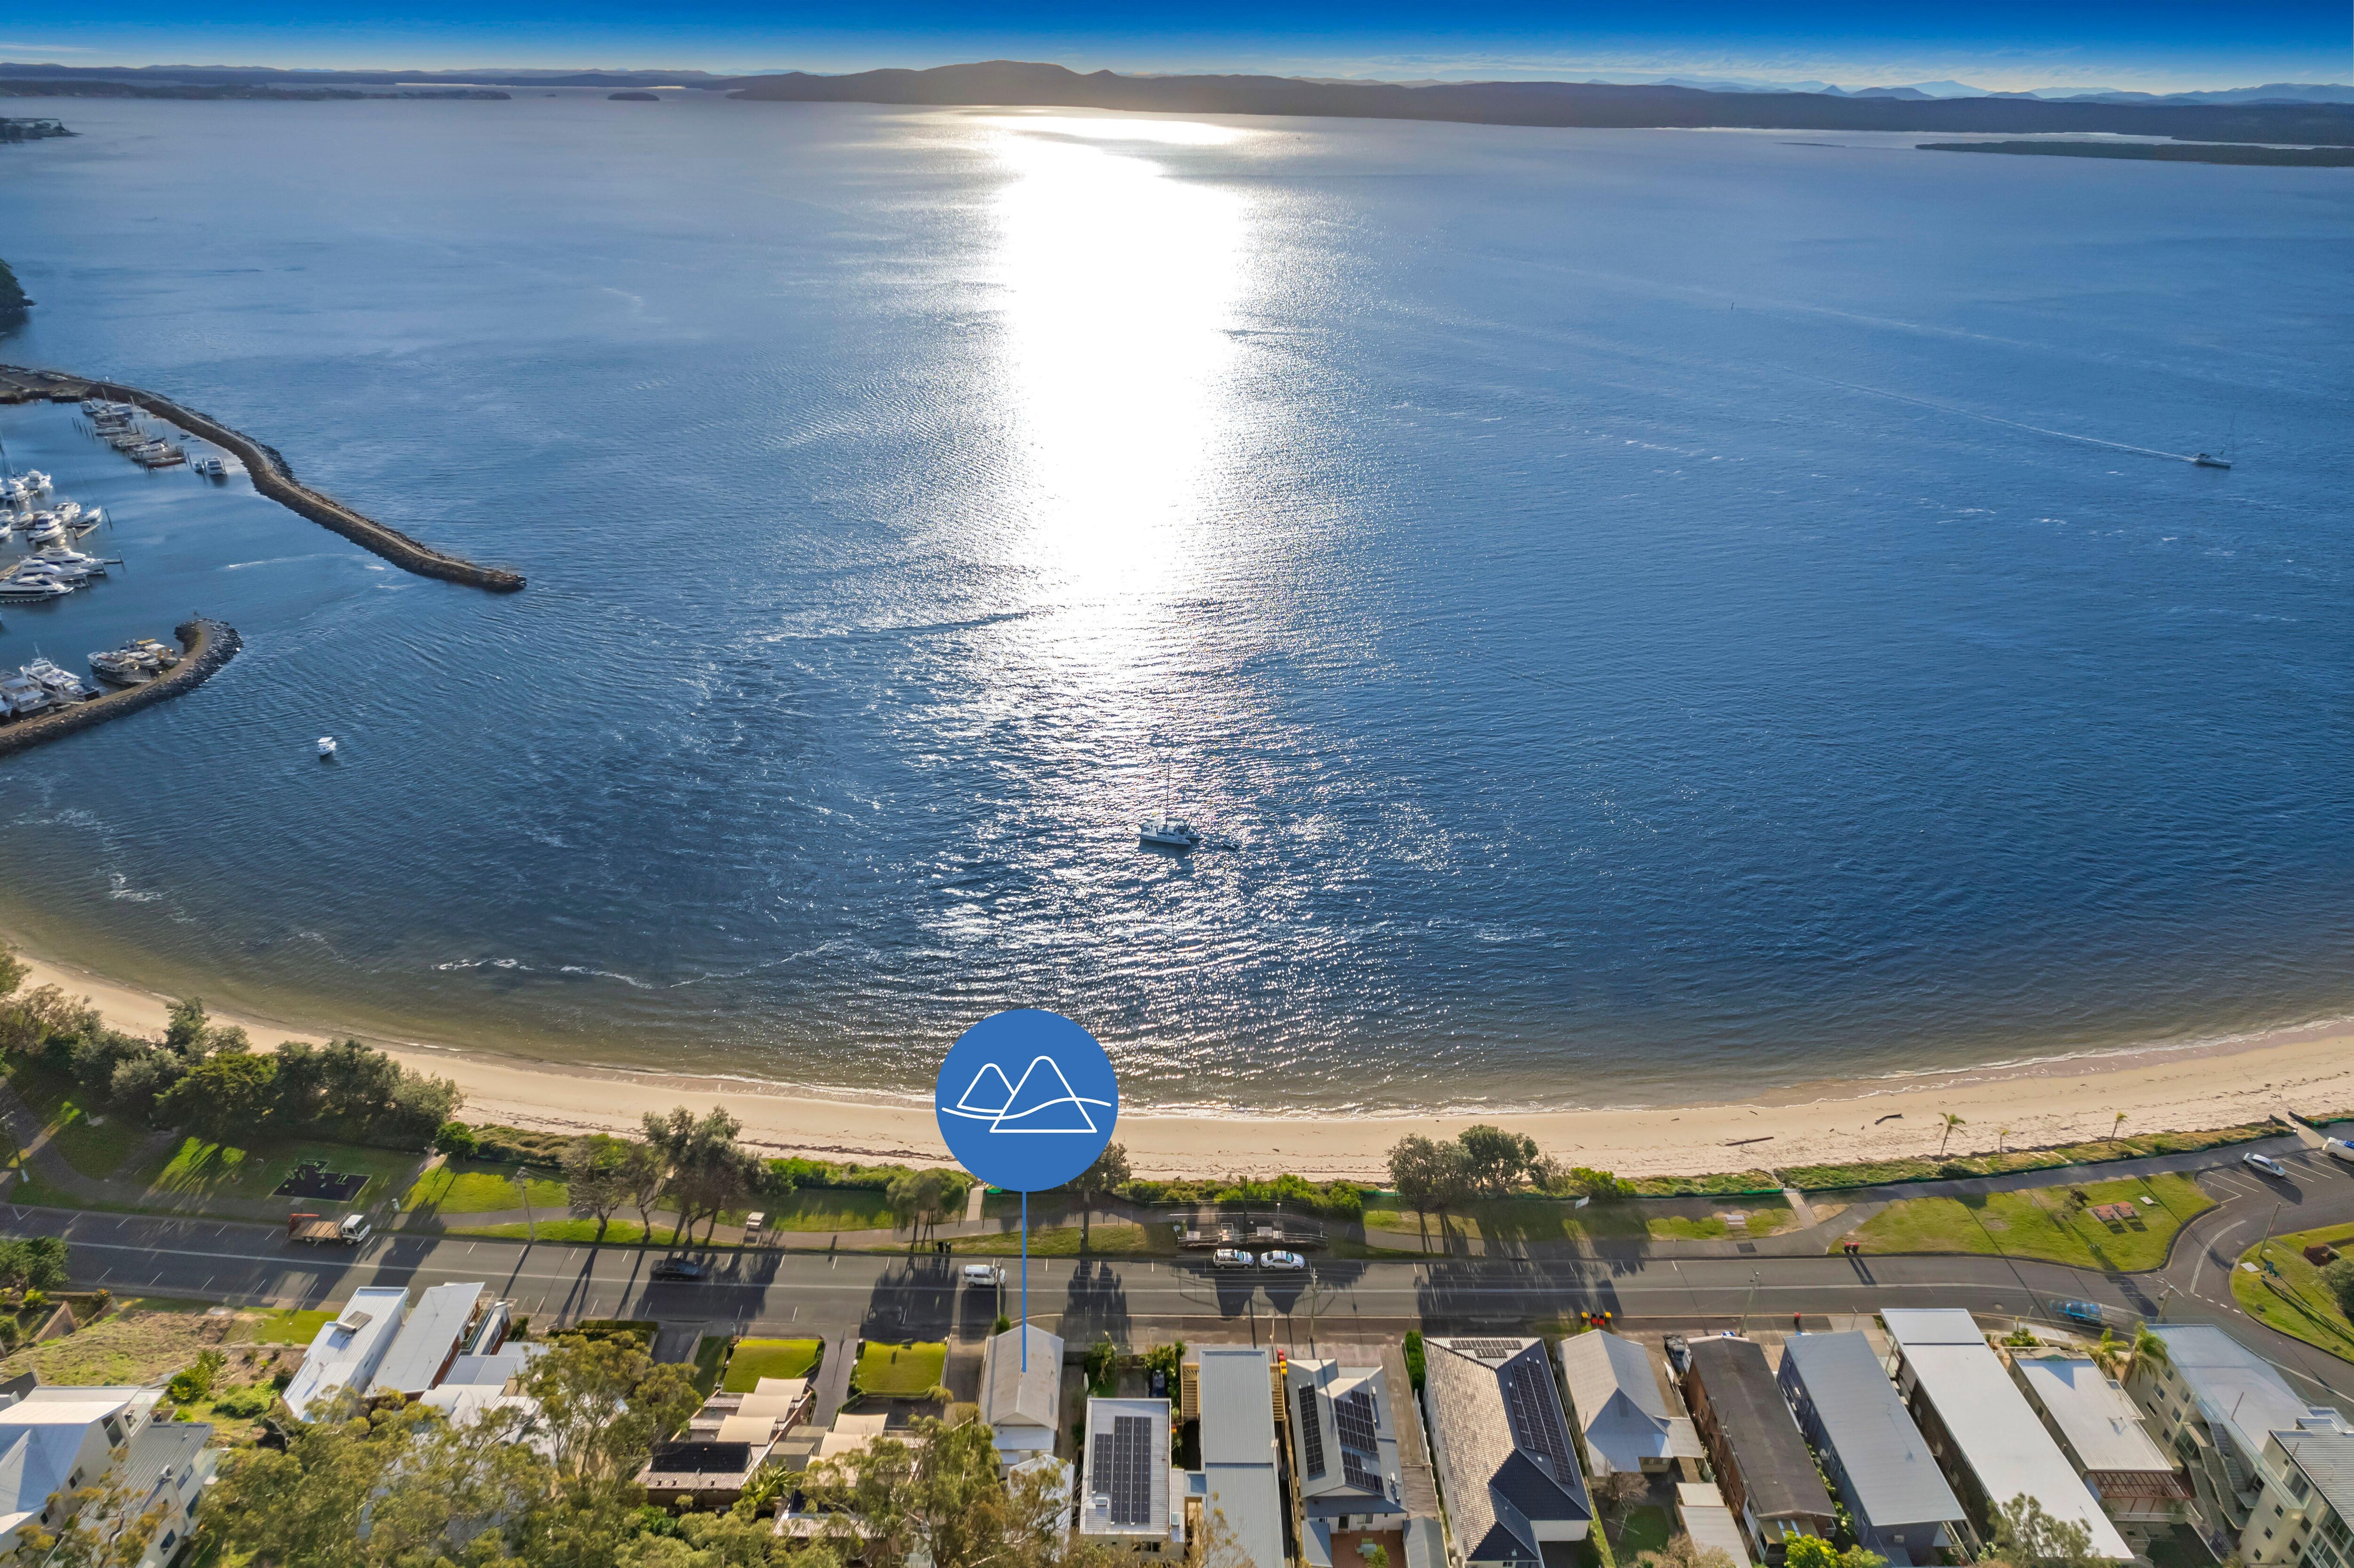
M2112 132L2182 141L2354 144L2354 87L2272 82L2225 92L1984 92L1968 82L1836 87L1662 78L1655 82L1372 82L1288 75L1118 75L1029 61L930 71L713 75L709 71L280 71L271 66L0 64L0 97L282 97L332 87L692 87L803 104L1005 104L1161 113L1337 115L1474 125Z

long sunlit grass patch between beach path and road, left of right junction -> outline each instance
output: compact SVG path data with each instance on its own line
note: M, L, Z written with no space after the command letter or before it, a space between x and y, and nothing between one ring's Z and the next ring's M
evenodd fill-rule
M2107 1203L2128 1203L2133 1220L2090 1212ZM1848 1231L1848 1241L1862 1243L1864 1253L2041 1257L2133 1274L2163 1264L2175 1231L2210 1208L2215 1201L2187 1175L2126 1177L1970 1198L1900 1198Z

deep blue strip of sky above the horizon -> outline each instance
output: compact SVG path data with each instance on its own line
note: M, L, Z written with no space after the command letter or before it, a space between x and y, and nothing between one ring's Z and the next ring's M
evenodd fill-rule
M699 66L864 71L958 59L1052 59L1092 71L1278 71L1389 80L1521 75L1959 78L1982 87L2248 87L2345 82L2342 0L1996 0L1888 5L1664 0L384 0L202 9L127 0L28 7L0 59L261 66ZM35 19L38 16L38 19Z

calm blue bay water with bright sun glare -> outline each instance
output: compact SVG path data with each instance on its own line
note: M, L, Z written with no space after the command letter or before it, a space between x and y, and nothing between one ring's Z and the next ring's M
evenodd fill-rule
M0 765L47 951L817 1085L1050 1005L1132 1107L1283 1111L2354 1010L2340 172L66 108L0 151L40 299L0 358L172 391L532 586L0 412L129 560L0 612L7 664L247 638ZM1165 772L1236 848L1137 850Z

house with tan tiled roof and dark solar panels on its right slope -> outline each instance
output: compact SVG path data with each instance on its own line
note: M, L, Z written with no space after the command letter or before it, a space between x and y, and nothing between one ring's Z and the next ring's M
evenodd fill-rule
M1431 1460L1452 1568L1542 1568L1584 1540L1594 1502L1577 1469L1542 1340L1422 1342Z

